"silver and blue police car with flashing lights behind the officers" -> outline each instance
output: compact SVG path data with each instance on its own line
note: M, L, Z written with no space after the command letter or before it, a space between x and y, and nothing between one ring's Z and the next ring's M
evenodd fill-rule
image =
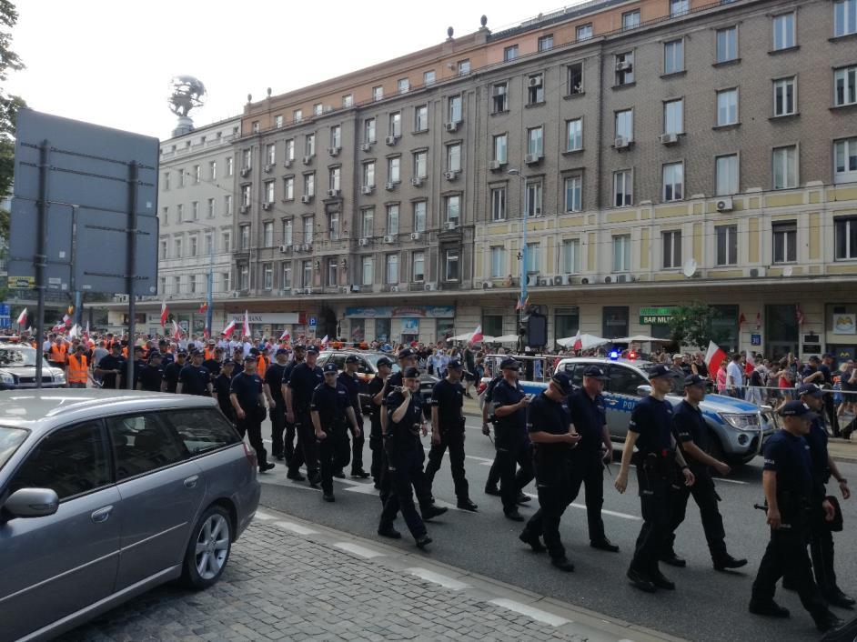
M544 357L515 358L522 361L533 358L544 360ZM614 441L624 441L628 433L631 410L650 392L647 373L654 364L649 361L614 360L596 356L565 357L560 359L552 372L565 371L571 376L575 386L582 386L583 371L587 366L599 366L607 376L603 392L607 426ZM547 366L544 371L551 372ZM520 385L524 392L539 394L548 386L547 381L525 379L523 372L524 370L521 370ZM487 381L488 378L483 379L483 382ZM678 406L682 396L684 373L679 368L673 368L672 391L667 399L673 406ZM731 396L707 395L700 409L705 422L716 437L712 439L711 455L730 464L746 464L758 455L762 444L773 435L776 427L770 407L756 406Z

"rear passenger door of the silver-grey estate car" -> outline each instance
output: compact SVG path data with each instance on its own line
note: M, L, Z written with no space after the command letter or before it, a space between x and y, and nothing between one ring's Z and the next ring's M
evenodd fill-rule
M116 590L181 563L206 480L159 412L108 416L122 497Z

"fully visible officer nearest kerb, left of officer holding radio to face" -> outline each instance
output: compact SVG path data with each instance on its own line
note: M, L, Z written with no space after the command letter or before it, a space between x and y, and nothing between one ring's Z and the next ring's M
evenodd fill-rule
M348 426L356 439L360 434L354 407L348 389L337 379L337 365L332 361L322 368L324 383L318 384L312 394L309 414L318 439L318 463L321 470L321 492L326 502L336 501L333 497L333 475L348 459Z

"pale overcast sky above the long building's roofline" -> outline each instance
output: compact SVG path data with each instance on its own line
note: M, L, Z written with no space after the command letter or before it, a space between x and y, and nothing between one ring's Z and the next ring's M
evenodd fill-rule
M497 31L561 1L16 0L12 46L27 68L6 89L39 111L165 139L173 75L206 85L207 105L191 114L206 125L268 86L277 95L437 45L450 25L472 33L482 14Z

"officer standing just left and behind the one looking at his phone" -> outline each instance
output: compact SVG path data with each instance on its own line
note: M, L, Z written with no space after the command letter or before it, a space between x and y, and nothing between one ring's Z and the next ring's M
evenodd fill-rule
M527 406L529 396L518 383L519 364L506 358L500 363L503 380L494 387L491 401L497 417L496 442L500 474L500 497L503 513L516 522L524 521L518 512L521 489L533 478L529 437L527 436ZM516 464L520 466L517 474Z

